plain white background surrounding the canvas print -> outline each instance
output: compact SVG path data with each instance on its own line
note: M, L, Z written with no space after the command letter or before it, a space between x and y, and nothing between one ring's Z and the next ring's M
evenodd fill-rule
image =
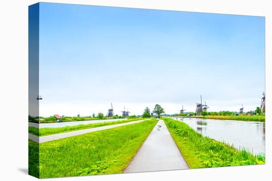
M266 165L74 177L58 181L269 180L272 170L270 0L43 0L91 5L140 7L266 16ZM37 0L0 1L0 180L32 181L28 176L28 5ZM269 52L270 50L270 52ZM51 181L53 179L48 179Z

